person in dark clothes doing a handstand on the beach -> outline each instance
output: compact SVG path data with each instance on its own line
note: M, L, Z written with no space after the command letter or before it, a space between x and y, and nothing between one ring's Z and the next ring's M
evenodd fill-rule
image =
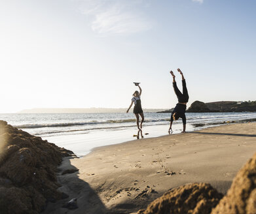
M173 86L174 86L174 92L177 95L177 99L178 99L178 103L176 104L174 111L172 112L171 115L171 122L170 122L170 130L172 131L172 122L174 120L179 119L179 117L182 118L183 121L183 133L186 131L186 115L185 115L185 111L187 108L187 102L189 102L189 94L187 92L187 86L186 86L186 81L185 78L183 76L183 73L181 72L180 69L177 69L178 72L181 74L182 77L182 87L183 87L183 93L181 93L181 91L179 91L176 81L175 81L175 75L174 72L172 72L172 70L170 71L170 73L172 74L172 78L173 78Z

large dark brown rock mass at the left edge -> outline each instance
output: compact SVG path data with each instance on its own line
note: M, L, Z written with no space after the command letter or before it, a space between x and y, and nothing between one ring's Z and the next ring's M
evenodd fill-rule
M1 213L39 213L46 202L65 194L56 191L56 168L72 151L0 121Z

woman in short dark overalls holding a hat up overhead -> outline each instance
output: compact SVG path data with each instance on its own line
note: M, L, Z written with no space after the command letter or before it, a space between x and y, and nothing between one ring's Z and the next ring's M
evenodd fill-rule
M139 87L139 84L135 84L137 87ZM132 98L132 103L130 104L128 110L126 113L129 112L130 108L132 107L132 104L134 103L134 114L136 115L136 121L137 121L137 129L141 130L142 129L142 123L144 121L144 115L143 115L143 110L141 108L141 87L139 87L139 91L135 91L133 94ZM139 115L141 115L141 124L139 127Z

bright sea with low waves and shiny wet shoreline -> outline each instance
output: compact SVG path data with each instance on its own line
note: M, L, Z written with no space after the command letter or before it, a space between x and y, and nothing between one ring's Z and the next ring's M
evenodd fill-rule
M168 134L170 115L145 113L143 138ZM230 113L187 113L187 131L200 130L223 123L255 119L256 112ZM94 147L119 144L141 138L137 134L136 119L129 113L86 113L86 114L0 114L0 119L13 127L83 156ZM183 129L182 120L174 121L172 134Z

